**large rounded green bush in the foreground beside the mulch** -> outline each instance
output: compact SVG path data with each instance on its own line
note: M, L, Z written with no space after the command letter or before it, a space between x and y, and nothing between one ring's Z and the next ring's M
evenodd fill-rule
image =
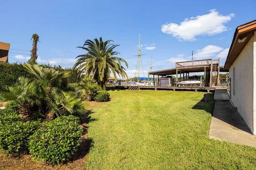
M29 152L36 160L59 164L70 159L81 143L78 117L60 116L47 122L30 138Z

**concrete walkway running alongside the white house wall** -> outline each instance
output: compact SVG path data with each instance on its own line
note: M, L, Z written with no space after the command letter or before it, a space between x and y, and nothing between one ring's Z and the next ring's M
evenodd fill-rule
M227 90L215 90L209 138L256 147L256 137L251 134L242 116L231 105Z

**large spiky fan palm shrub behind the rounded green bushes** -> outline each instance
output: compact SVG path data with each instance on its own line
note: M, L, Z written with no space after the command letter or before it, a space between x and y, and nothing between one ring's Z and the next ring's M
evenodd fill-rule
M1 87L0 101L18 100L23 118L31 119L36 113L50 119L85 113L77 91L66 91L68 72L35 64L23 64L21 68L33 78L19 78L13 86Z

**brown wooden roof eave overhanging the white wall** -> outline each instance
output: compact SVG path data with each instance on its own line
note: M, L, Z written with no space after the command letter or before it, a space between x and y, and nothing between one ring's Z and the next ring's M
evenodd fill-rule
M249 42L256 31L256 20L240 25L236 28L232 44L229 48L225 69L229 69L231 64L236 60L243 48Z

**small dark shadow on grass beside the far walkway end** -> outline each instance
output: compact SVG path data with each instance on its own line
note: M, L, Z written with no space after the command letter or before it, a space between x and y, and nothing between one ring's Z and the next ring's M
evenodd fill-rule
M213 112L213 94L204 94L204 97L192 107L192 109L203 110L207 113L212 114Z

